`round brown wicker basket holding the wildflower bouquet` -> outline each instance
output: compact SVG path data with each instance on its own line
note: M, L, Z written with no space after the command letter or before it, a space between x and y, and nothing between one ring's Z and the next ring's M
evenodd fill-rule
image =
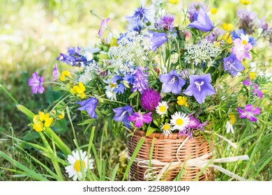
M209 168L199 175L199 168L195 166L185 166L189 159L197 157L205 157L211 159L213 142L206 141L202 137L194 137L192 141L186 137L178 137L178 133L172 133L168 136L162 133L154 132L146 137L146 132L136 130L133 136L128 138L128 155L131 157L139 143L139 140L144 137L144 143L139 149L139 153L132 166L130 167L130 180L174 180L183 168L181 180L214 180L213 169ZM149 155L151 151L152 141L155 138L153 146L152 166L150 166ZM182 146L181 146L182 145ZM208 154L208 155L207 155ZM186 162L186 164L184 163ZM166 164L166 165L165 165ZM173 166L178 164L178 166ZM184 165L185 164L185 165ZM164 167L164 168L163 168ZM162 176L162 169L163 171ZM159 178L158 178L158 175Z

